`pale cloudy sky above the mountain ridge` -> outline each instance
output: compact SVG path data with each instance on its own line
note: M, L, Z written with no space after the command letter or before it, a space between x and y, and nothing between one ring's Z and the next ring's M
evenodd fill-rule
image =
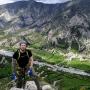
M7 3L13 3L16 1L22 1L22 0L0 0L0 5L7 4ZM35 0L35 1L48 3L48 4L54 4L54 3L63 3L63 2L69 1L69 0Z

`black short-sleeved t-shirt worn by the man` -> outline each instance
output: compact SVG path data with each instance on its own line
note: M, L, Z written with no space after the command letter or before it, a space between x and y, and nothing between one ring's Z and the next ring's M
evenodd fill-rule
M20 56L19 56L20 54ZM14 54L13 54L13 58L17 60L17 63L19 65L19 67L24 68L28 62L29 62L29 58L32 56L32 52L31 50L26 50L26 52L21 53L19 50L17 50Z

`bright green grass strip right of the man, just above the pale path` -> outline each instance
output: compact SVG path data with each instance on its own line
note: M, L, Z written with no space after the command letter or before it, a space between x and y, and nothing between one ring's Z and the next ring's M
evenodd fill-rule
M63 55L53 54L44 50L32 50L34 55L38 56L40 60L46 61L52 64L64 65L65 67L73 67L87 72L90 71L90 61L80 61L75 58L72 61L66 61Z

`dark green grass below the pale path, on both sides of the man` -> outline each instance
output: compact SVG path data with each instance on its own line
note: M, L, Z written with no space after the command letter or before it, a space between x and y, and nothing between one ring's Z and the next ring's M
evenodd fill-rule
M0 90L5 90L7 84L11 81L11 69L10 64L7 67L0 69ZM59 90L90 90L90 77L74 75L63 72L53 72L47 69L46 66L35 66L35 70L40 73L43 72L40 77L42 80L54 84L56 81L56 87ZM44 78L43 78L44 77Z

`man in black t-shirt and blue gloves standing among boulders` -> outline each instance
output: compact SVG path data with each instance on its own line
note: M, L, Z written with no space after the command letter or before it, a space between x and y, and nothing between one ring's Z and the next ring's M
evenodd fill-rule
M25 79L25 74L28 73L35 81L38 90L41 90L38 77L33 69L32 52L27 49L27 43L25 41L20 42L19 49L13 54L12 68L13 79L16 80L17 88L21 88L25 85L25 82L22 81Z

